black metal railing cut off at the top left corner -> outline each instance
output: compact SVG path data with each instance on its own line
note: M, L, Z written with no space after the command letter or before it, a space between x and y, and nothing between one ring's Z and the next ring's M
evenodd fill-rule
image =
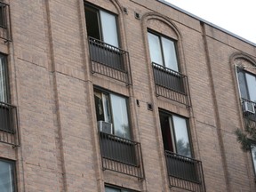
M10 7L0 1L0 38L11 41Z

